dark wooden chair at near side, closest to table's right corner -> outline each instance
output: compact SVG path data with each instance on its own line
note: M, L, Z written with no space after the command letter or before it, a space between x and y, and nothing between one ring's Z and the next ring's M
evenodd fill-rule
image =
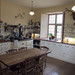
M45 54L41 55L41 56L38 56L36 58L36 70L35 70L35 73L36 75L43 75L43 63L44 63L44 60L45 60ZM42 74L41 74L42 73Z

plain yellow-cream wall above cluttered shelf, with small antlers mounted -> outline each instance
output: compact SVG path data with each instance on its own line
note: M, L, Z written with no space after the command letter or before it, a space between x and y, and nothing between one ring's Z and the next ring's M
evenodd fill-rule
M28 21L32 19L32 16L29 15L29 11L30 8L1 0L1 20L10 25L18 25L19 23L28 25ZM23 12L25 12L25 15L23 15ZM15 18L19 13L21 13L24 18Z

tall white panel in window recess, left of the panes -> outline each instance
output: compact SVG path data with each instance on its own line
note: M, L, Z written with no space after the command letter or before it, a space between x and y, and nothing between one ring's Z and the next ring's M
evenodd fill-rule
M41 28L40 28L40 38L47 38L48 37L48 15L42 14L41 15Z

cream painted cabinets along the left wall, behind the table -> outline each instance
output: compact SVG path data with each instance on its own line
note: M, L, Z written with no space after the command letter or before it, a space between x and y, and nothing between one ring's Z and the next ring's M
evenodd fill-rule
M9 49L27 47L27 49L33 48L33 40L18 41L17 46L13 42L0 43L0 55L5 54Z

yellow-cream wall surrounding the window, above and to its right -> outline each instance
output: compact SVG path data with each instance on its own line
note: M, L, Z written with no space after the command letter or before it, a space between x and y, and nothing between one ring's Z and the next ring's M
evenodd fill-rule
M54 13L54 12L65 12L65 24L64 24L64 36L63 37L71 37L75 38L75 27L74 23L75 20L73 20L72 13L67 12L65 8L68 8L71 10L71 8L75 5L74 4L67 4L67 5L60 5L60 6L54 6L49 8L40 8L35 9L35 15L34 15L34 21L42 21L41 15L47 14L47 13ZM42 25L42 24L41 24ZM67 26L68 25L68 26ZM43 31L42 31L43 32ZM47 36L45 36L47 37Z

